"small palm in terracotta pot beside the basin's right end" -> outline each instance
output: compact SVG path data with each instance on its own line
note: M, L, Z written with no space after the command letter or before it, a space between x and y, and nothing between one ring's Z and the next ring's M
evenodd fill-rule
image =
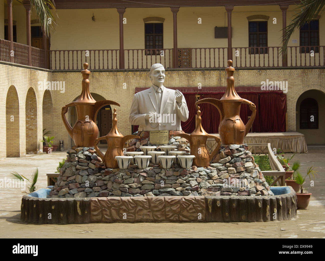
M313 175L313 177L315 177L314 175L317 175L316 173L317 171L314 170L314 167L311 166L307 169L307 174L305 176L303 176L300 172L296 172L295 175L295 182L299 185L300 187L300 193L296 193L297 195L297 208L298 209L307 209L308 204L309 204L309 200L310 200L310 196L312 195L311 193L307 193L306 189L305 189L305 193L304 193L304 184L306 181L306 177L309 176L310 178L310 174Z

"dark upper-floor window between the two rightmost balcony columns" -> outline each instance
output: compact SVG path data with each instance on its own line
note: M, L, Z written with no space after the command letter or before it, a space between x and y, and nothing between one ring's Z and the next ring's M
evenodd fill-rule
M267 21L248 22L248 40L250 54L267 53Z

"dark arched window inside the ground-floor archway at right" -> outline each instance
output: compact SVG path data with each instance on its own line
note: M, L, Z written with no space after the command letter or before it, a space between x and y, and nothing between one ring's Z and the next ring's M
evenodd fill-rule
M318 129L318 103L313 98L306 98L300 104L300 129Z

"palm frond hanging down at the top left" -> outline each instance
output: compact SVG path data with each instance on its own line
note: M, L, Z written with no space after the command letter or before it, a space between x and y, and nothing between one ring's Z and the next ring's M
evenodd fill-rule
M51 12L52 9L56 16L58 16L54 0L30 0L30 2L31 10L34 8L40 19L42 31L45 32L46 37L49 37L50 29L55 30L55 27L57 26L55 16Z

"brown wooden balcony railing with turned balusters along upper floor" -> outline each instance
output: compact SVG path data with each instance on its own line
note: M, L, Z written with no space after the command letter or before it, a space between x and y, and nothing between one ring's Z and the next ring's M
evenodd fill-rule
M9 41L0 39L0 61L10 62ZM28 65L28 46L13 43L14 62ZM45 51L32 47L32 66L51 70L82 70L83 63L92 70L149 69L153 63L174 68L173 49L125 49L124 68L120 68L119 49L101 50L49 50L49 63L45 64ZM236 68L281 68L280 47L232 48L233 66ZM286 67L324 67L324 46L287 48ZM227 48L178 48L176 68L225 68Z

